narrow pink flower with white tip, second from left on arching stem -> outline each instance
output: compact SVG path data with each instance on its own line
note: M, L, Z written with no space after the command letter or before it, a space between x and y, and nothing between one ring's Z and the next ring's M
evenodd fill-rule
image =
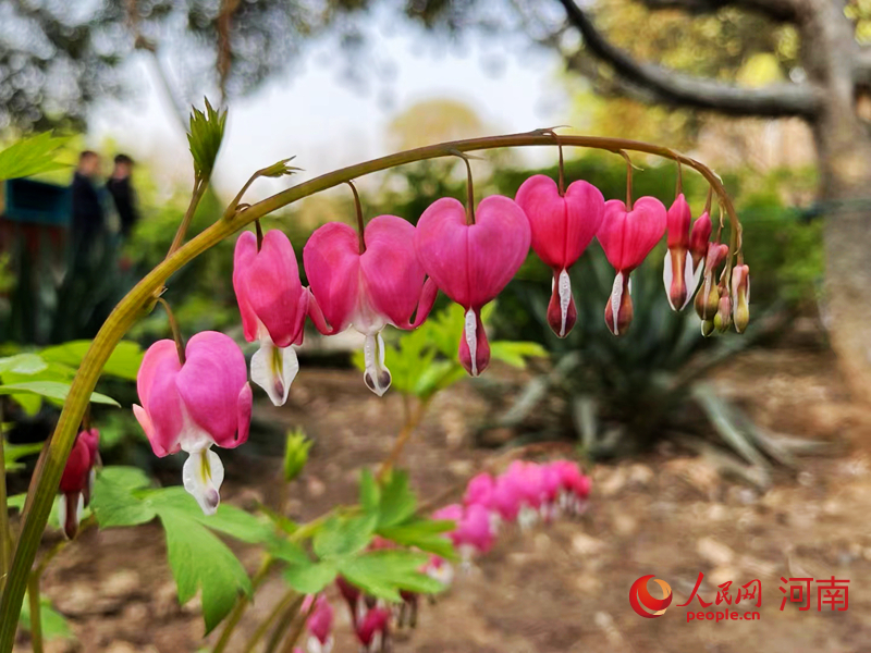
M308 311L308 293L299 282L296 255L283 232L267 232L259 251L252 232L240 235L233 256L233 289L245 340L260 341L252 357L252 381L281 406L299 371L291 345L303 344Z

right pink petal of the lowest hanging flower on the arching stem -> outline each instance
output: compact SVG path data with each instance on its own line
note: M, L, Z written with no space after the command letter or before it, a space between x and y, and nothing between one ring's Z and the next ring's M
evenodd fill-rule
M248 380L242 350L228 335L204 331L187 342L185 356L175 385L191 419L218 446L235 446L240 431L238 397Z

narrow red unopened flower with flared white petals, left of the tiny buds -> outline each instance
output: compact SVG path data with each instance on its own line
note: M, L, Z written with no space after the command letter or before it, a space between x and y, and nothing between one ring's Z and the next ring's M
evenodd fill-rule
M689 304L701 278L701 263L695 264L694 257L690 255L691 221L689 205L682 193L674 200L666 217L668 250L665 252L665 264L662 268L662 280L672 310L683 310ZM696 221L697 225L700 223L701 219ZM710 224L711 221L708 219L709 230ZM697 237L700 235L701 229Z

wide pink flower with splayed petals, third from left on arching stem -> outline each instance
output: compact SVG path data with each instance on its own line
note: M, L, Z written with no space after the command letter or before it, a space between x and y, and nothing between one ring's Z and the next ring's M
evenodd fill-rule
M318 229L303 249L315 325L324 335L354 326L366 336L363 378L379 396L390 387L381 330L387 324L419 326L438 293L431 281L424 281L414 239L410 223L395 215L379 215L364 232L365 251L360 251L357 233L341 222Z

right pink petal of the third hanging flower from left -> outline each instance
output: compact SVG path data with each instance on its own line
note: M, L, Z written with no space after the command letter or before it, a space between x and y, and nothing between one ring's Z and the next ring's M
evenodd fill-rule
M396 326L410 323L420 291L424 268L415 254L415 227L395 215L379 215L366 225L366 251L360 273L371 307Z

